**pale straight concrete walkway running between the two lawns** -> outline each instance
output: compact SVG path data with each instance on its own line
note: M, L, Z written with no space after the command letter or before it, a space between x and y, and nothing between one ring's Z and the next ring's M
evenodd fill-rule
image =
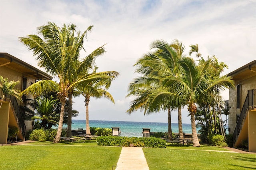
M122 147L116 170L149 170L142 148Z

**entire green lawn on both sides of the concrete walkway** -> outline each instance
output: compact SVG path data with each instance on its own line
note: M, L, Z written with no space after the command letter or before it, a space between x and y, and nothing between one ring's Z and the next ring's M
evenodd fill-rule
M117 164L122 149L96 146L96 140L86 140L85 143L34 142L30 144L33 146L0 146L0 169L112 170L112 166ZM226 149L213 146L143 148L150 170L256 169L256 154L214 152L222 150Z

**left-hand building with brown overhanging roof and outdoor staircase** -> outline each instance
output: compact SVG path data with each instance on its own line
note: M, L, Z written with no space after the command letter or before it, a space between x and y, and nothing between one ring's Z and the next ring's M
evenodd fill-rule
M8 53L0 53L0 76L8 78L9 81L19 80L20 83L16 89L21 91L38 80L52 79L52 76ZM18 128L17 139L25 140L26 131L32 130L34 125L33 120L24 119L26 111L22 108L26 106L26 102L20 102L13 96L6 95L3 100L2 96L3 92L0 89L0 102L3 102L0 108L0 144L7 143L9 128ZM22 99L26 101L26 99L33 99L33 96L23 96Z

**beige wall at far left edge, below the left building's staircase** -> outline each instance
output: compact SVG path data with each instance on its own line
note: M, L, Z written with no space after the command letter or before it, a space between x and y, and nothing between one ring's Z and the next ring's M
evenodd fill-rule
M1 101L1 100L0 100ZM9 103L4 102L0 108L0 144L6 144L8 139Z

